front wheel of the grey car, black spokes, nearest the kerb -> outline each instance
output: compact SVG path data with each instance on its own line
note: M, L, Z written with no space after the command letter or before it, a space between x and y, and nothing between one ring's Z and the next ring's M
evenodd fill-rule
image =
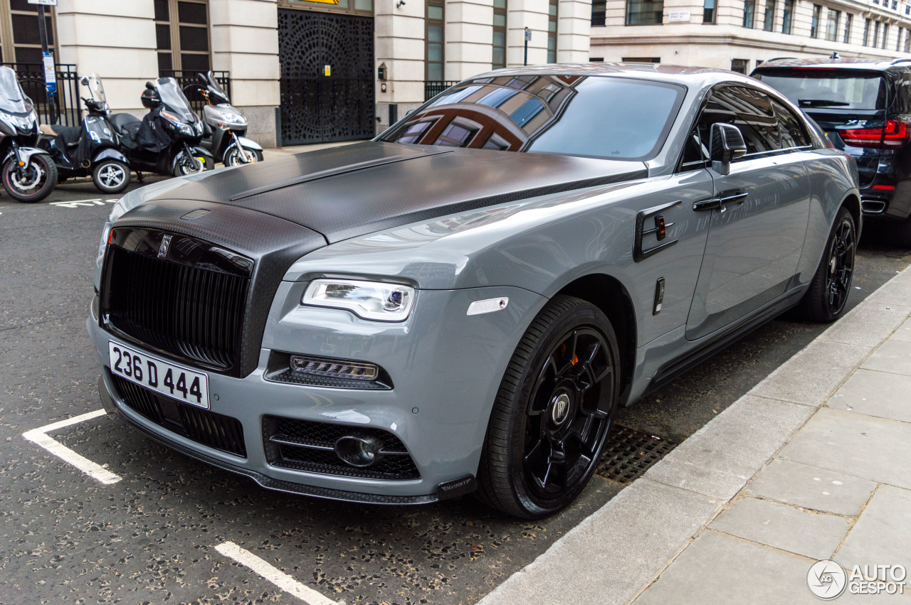
M478 497L525 519L585 488L619 400L619 348L601 310L554 297L519 341L500 383L478 468Z

